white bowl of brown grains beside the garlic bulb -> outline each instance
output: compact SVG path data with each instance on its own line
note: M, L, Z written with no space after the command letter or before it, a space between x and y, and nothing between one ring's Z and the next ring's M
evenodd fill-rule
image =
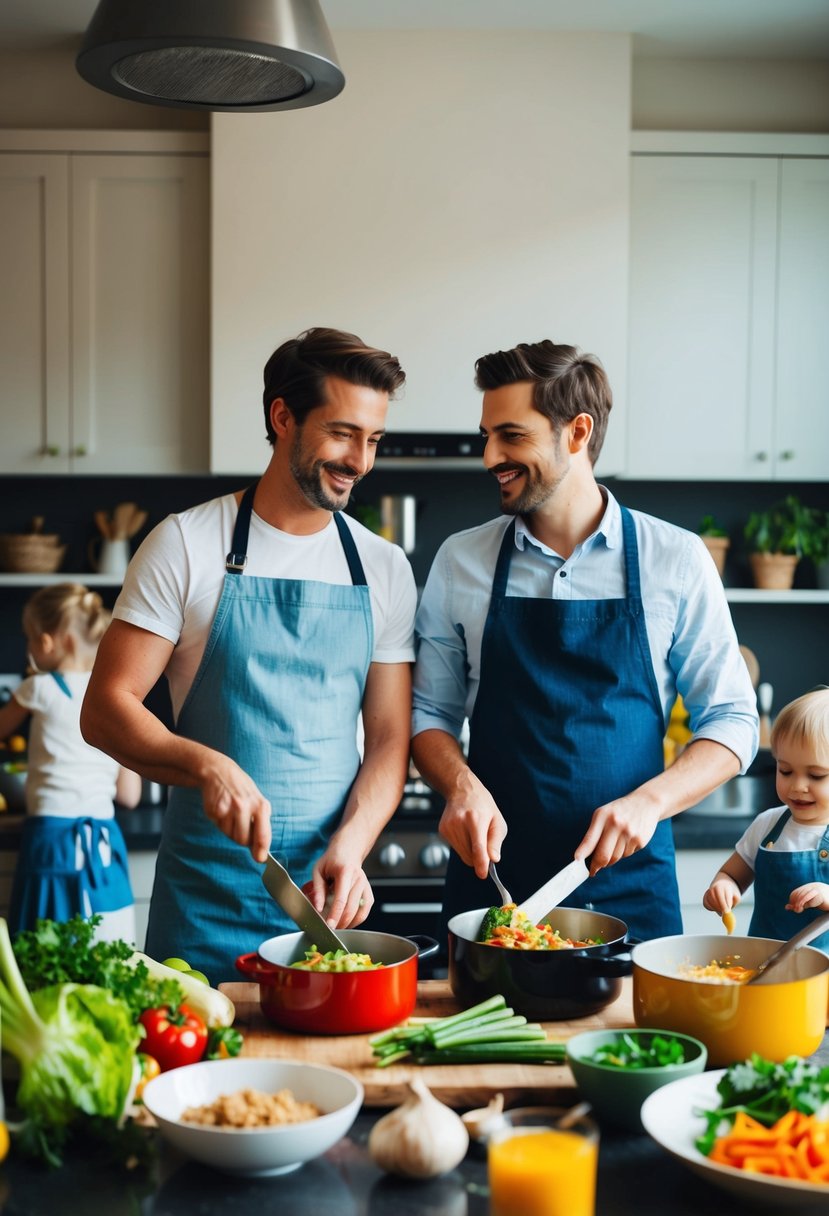
M143 1104L162 1137L226 1173L288 1173L349 1131L363 1091L349 1073L301 1060L203 1060L151 1081Z

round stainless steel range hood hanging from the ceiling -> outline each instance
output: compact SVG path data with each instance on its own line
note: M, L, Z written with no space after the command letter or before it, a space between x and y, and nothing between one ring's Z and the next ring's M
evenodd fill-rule
M345 84L318 0L100 0L75 67L130 101L235 113L316 106Z

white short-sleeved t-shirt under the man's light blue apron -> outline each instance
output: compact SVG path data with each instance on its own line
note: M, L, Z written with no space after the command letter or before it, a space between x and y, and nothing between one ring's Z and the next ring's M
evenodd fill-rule
M168 516L130 562L113 617L175 644L165 675L177 719L215 617L231 548L237 505L232 494ZM404 551L344 516L371 592L372 663L414 662L414 575ZM333 517L310 536L280 531L253 512L248 564L239 578L350 584Z

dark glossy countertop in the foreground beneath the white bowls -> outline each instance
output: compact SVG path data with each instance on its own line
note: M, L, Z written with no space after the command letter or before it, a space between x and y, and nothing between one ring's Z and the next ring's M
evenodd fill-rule
M814 1058L829 1063L829 1036ZM458 1169L441 1178L388 1177L374 1166L366 1147L382 1114L363 1109L350 1133L323 1158L280 1178L218 1173L188 1162L154 1133L150 1133L154 1156L145 1170L115 1170L74 1156L50 1172L9 1158L0 1166L0 1211L4 1216L487 1216L481 1148L472 1145ZM748 1216L757 1206L712 1187L647 1135L602 1128L596 1216L665 1216L669 1211L672 1216ZM786 1207L791 1216L806 1211L816 1209Z

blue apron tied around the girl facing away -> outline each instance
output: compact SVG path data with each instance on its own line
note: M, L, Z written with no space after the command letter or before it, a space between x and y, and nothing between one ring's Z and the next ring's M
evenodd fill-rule
M50 672L72 697L58 671ZM132 905L126 845L114 818L32 815L23 824L15 869L9 929L33 929L35 921L69 921Z

